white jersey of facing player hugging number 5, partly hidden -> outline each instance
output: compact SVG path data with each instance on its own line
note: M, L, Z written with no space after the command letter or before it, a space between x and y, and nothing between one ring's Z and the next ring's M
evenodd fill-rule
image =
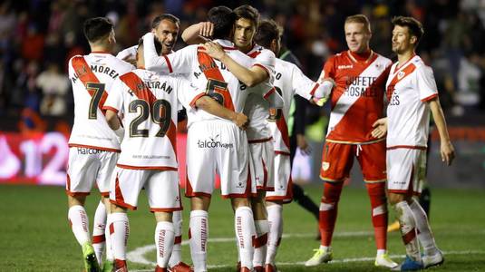
M259 66L265 69L269 75L264 83L260 83L254 88L267 89L268 85L273 84L275 74L276 56L271 50L255 44L247 55L254 60L253 66ZM261 95L249 94L247 97L244 111L249 123L247 124L248 141L264 141L271 138L271 131L267 123L269 115L269 103Z

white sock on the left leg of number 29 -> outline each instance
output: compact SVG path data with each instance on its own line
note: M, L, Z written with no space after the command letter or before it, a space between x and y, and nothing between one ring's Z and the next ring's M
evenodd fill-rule
M126 244L130 236L128 215L124 212L110 214L112 232L112 253L115 259L126 260Z

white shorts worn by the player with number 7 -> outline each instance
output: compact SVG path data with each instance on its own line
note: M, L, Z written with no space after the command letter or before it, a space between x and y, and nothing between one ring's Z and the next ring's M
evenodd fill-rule
M110 180L120 153L82 147L69 148L66 193L89 195L94 181L102 196L110 194Z

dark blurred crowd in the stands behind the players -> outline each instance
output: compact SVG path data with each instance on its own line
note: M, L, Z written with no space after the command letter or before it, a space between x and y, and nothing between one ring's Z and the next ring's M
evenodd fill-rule
M181 34L205 21L212 6L243 4L283 26L284 44L312 79L330 54L346 49L347 15L367 15L371 47L393 61L391 18L411 15L424 25L418 53L434 70L445 114L485 115L485 0L6 0L0 4L0 129L42 129L44 119L54 118L64 120L63 130L69 130L73 95L67 63L75 54L89 53L82 34L85 19L111 18L118 52L137 44L156 15L178 16ZM179 38L176 48L184 45ZM6 125L12 121L14 127Z

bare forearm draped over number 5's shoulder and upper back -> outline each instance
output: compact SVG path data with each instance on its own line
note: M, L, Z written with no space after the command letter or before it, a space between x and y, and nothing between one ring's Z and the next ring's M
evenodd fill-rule
M226 52L224 52L219 44L209 42L204 44L204 48L205 53L208 53L211 57L224 63L224 65L228 67L228 70L233 73L239 81L245 83L249 87L262 83L269 77L267 70L260 66L253 66L248 69L235 62Z

